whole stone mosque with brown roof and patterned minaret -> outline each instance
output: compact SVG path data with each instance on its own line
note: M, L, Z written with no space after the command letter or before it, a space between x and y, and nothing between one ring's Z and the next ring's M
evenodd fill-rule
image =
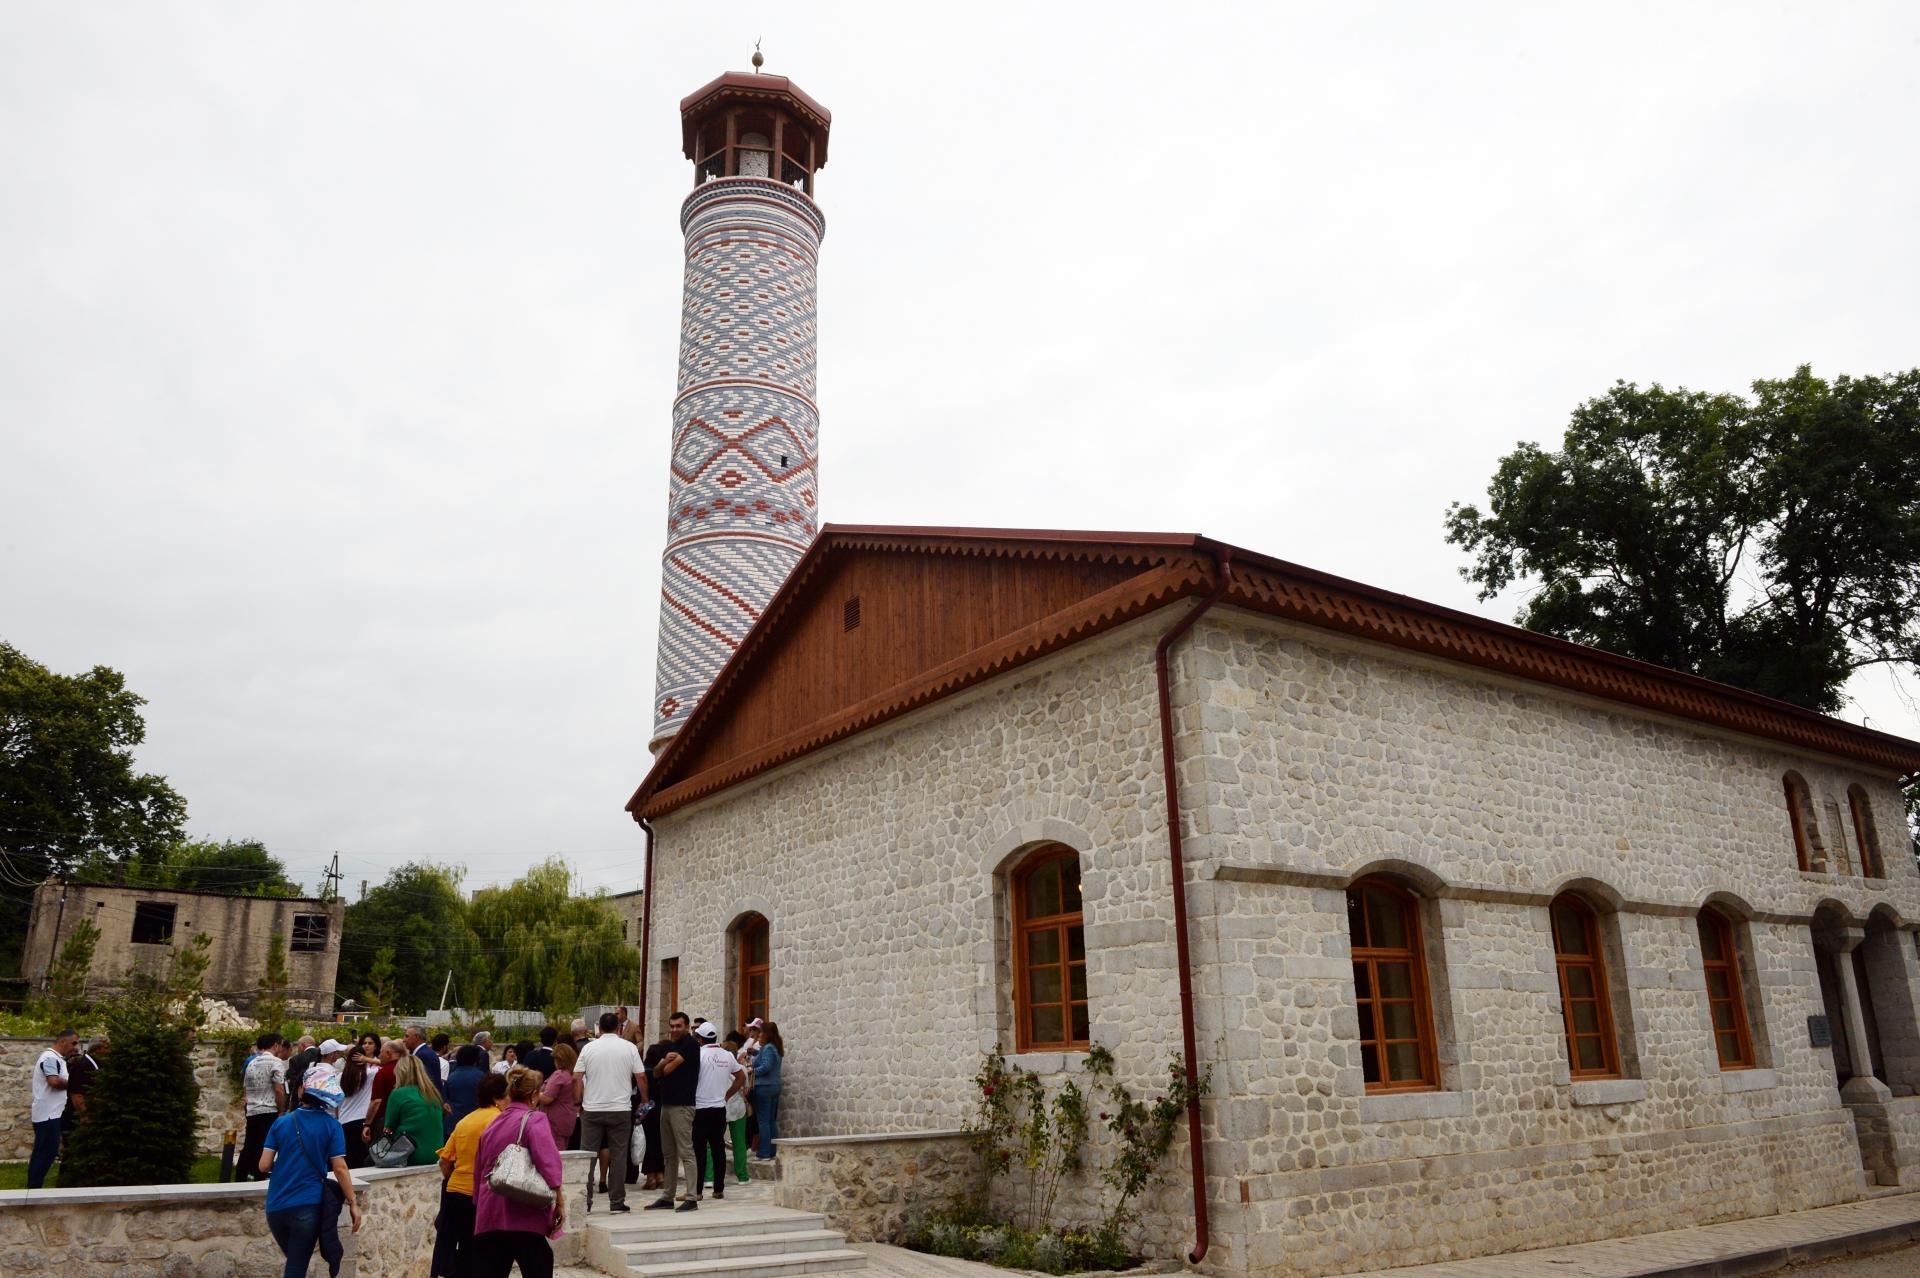
M1140 1220L1204 1272L1920 1182L1920 743L1200 535L816 528L829 117L682 117L641 1007L780 1023L781 1203L897 1230L987 1053L1096 1044L1208 1078Z

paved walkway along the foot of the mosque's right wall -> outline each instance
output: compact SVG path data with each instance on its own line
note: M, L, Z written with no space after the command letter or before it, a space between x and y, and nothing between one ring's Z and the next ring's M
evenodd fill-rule
M1864 1238L1860 1238L1864 1236ZM1849 1249L1920 1238L1920 1194L1891 1194L1860 1203L1793 1211L1784 1217L1703 1224L1638 1238L1511 1251L1478 1261L1444 1261L1382 1268L1367 1278L1680 1278L1764 1274L1782 1265L1818 1261ZM1853 1247L1849 1247L1853 1240Z

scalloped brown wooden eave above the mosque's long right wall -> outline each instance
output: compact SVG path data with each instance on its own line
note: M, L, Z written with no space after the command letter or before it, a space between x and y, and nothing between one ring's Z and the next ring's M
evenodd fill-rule
M1597 649L1536 635L1484 618L1450 614L1417 601L1346 589L1273 566L1246 566L1235 555L1225 603L1317 629L1332 629L1398 649L1427 652L1603 700L1711 723L1749 737L1853 758L1897 773L1920 769L1920 743L1832 720L1814 710L1722 687Z

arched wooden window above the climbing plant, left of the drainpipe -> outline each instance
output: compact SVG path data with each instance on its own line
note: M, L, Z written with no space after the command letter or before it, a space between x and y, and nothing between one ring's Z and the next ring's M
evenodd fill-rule
M1014 1021L1021 1052L1089 1046L1087 933L1073 848L1041 848L1014 875Z

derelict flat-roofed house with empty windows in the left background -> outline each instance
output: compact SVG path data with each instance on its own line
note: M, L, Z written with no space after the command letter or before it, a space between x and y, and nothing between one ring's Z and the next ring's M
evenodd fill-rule
M54 956L75 923L100 929L86 988L111 990L142 969L163 969L173 942L196 933L211 936L205 984L211 998L250 1007L267 975L267 946L286 944L286 1000L296 1013L330 1017L334 975L340 969L342 902L225 892L167 892L157 888L42 883L33 894L33 921L21 971L44 988Z

